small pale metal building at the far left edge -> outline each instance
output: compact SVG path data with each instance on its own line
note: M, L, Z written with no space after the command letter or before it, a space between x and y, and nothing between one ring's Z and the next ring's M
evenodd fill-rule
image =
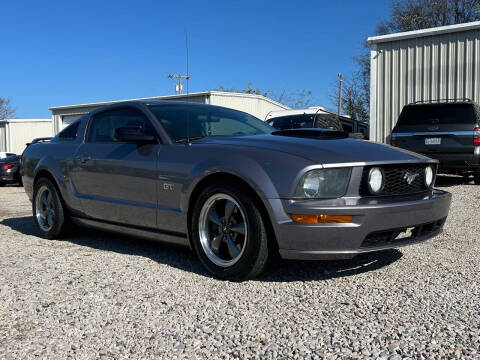
M52 119L0 120L0 152L21 154L26 143L52 135Z

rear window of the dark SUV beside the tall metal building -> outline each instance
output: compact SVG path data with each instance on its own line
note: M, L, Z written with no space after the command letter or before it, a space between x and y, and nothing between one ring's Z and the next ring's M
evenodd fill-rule
M398 125L474 123L476 123L476 116L471 104L405 106L398 119Z

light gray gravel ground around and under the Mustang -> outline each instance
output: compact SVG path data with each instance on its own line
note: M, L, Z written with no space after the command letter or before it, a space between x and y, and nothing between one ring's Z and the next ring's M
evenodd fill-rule
M188 250L92 230L35 236L0 188L0 358L480 358L480 186L434 240L211 278Z

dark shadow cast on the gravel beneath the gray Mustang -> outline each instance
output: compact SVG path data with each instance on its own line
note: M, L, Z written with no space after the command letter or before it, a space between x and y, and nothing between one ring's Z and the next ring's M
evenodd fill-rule
M0 225L8 226L24 235L36 235L31 216L3 219ZM161 264L211 277L195 254L183 247L81 227L74 227L72 234L68 235L64 241L91 249L143 256ZM348 277L388 266L401 257L400 251L387 250L359 255L351 260L278 260L256 281L312 281Z

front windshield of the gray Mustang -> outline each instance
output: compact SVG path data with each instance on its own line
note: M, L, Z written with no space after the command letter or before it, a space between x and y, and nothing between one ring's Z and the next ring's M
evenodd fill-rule
M270 134L274 129L247 113L193 104L150 105L150 110L173 141L209 136Z

